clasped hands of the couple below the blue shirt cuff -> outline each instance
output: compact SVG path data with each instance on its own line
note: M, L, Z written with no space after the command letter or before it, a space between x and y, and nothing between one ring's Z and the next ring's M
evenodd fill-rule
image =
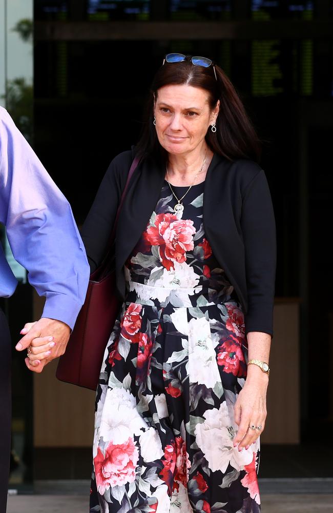
M64 354L71 329L61 321L44 317L27 323L20 333L24 337L16 344L16 349L28 349L29 358L25 359L28 369L41 372L45 365Z

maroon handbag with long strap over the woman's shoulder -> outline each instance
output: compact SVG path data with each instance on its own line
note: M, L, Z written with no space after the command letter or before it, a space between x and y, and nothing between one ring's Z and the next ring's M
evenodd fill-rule
M119 212L137 168L134 159L119 202L108 250L100 266L90 275L85 303L78 314L66 352L59 358L56 377L60 381L96 390L103 355L120 308L114 268L114 239Z

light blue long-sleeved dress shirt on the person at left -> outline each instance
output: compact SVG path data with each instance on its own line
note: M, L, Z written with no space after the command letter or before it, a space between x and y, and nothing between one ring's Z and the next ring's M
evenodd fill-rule
M46 297L43 317L73 328L87 292L86 251L68 201L2 107L0 222L29 283ZM16 285L0 244L0 296L8 298Z

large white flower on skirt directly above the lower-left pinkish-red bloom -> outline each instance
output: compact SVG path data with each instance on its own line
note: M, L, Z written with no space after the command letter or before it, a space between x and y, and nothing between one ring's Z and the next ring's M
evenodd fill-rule
M129 390L108 389L99 427L99 438L122 444L133 435L140 436L147 429L136 408L136 401Z

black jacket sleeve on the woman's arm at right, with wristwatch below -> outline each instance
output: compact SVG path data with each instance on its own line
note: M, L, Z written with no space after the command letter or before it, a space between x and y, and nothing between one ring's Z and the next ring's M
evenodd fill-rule
M263 331L273 336L276 228L272 199L263 170L246 187L241 228L248 301L245 331Z

